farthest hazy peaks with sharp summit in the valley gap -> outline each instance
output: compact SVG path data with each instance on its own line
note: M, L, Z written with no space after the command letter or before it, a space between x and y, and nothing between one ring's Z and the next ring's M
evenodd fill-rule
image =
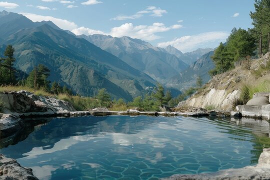
M185 62L188 65L193 64L197 59L199 59L203 54L206 54L207 52L213 50L212 48L198 48L196 50L193 50L191 52L185 52L182 53L177 48L168 45L164 48L168 53L174 54L176 57L181 59L183 62Z

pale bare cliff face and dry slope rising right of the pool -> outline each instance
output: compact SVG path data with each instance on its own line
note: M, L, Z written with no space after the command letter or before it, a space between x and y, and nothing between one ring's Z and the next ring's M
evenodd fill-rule
M215 108L230 110L240 96L242 82L254 80L252 71L258 69L269 59L269 53L259 59L252 59L250 69L242 64L230 71L213 76L197 93L180 105L205 107L211 105Z

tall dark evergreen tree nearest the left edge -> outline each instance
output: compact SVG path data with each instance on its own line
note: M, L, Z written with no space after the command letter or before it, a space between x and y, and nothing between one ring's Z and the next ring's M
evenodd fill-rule
M4 51L4 56L6 56L6 58L4 58L3 66L8 69L7 83L11 83L11 84L13 84L15 81L14 68L13 68L14 61L15 61L14 51L15 49L10 44L7 45Z

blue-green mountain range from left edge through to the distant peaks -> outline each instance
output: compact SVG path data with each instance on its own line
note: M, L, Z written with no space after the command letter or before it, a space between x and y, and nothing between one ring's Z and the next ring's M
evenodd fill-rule
M49 67L49 80L60 80L75 93L92 96L106 88L112 97L131 100L148 92L156 81L171 83L203 53L181 53L170 46L160 48L140 39L94 34L76 36L51 21L32 22L13 12L0 12L0 56L11 44L15 67L29 73L35 65ZM210 50L210 49L205 49ZM202 55L202 54L201 54Z

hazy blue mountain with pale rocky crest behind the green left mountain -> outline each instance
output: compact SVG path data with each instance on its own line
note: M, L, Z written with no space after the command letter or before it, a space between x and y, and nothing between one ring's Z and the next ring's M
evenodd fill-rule
M161 83L165 83L168 78L177 75L187 67L187 64L177 56L140 39L101 34L80 35L79 37L112 53Z

